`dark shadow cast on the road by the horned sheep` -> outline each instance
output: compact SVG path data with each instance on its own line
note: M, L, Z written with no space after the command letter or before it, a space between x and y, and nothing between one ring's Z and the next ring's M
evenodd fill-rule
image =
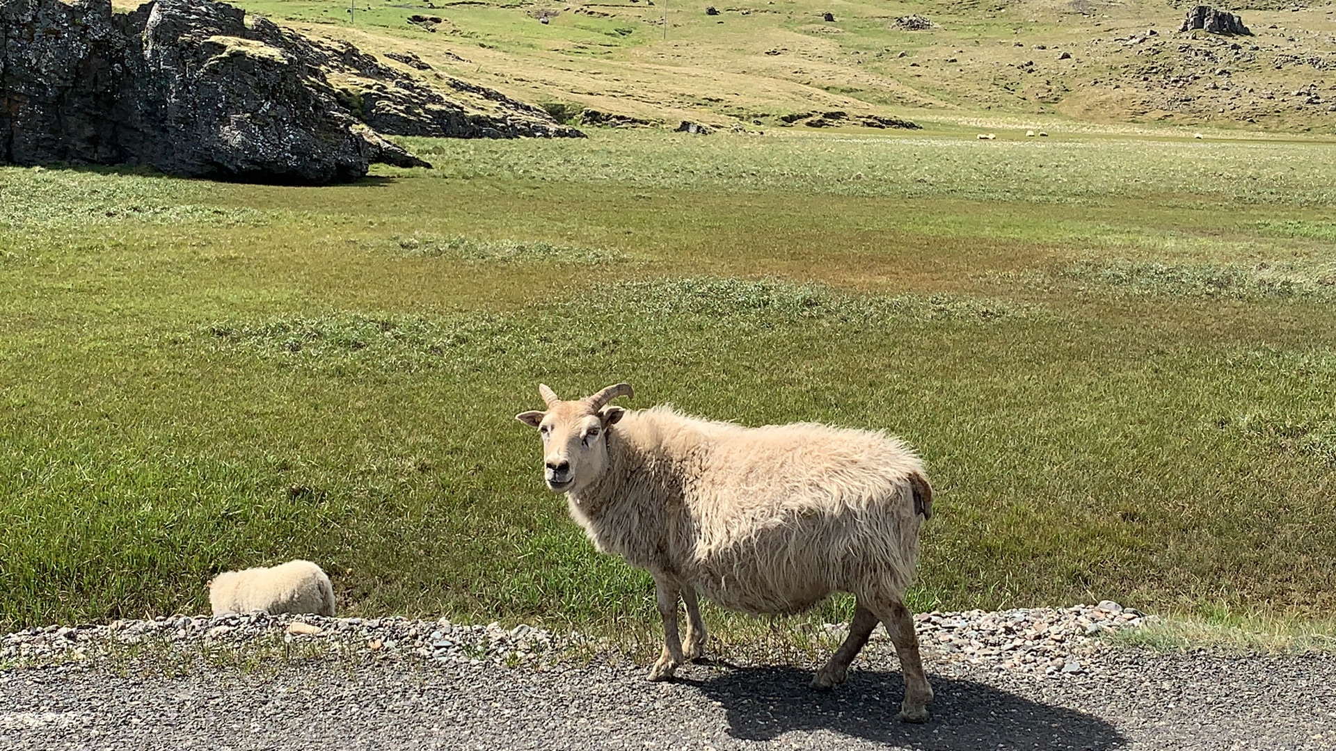
M679 679L723 704L728 735L772 740L790 731L840 735L922 751L974 748L1081 748L1104 751L1128 739L1109 723L1050 707L973 680L929 676L937 699L926 724L895 719L903 698L898 672L854 671L830 692L808 688L810 671L736 668L696 680Z

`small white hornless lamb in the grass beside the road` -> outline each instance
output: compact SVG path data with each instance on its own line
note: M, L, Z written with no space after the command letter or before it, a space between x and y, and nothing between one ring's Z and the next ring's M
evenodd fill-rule
M208 583L208 604L215 616L253 611L333 616L334 588L321 567L297 560L219 573Z

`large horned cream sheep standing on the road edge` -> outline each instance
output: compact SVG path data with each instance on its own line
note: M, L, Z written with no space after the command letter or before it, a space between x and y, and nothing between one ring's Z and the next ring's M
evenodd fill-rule
M572 518L600 552L653 576L664 648L649 680L671 679L701 655L697 595L752 615L790 615L850 592L848 637L812 687L843 683L882 623L904 676L898 716L927 719L933 688L904 591L933 488L904 442L815 422L744 428L669 406L607 406L632 396L627 384L574 401L546 385L538 393L548 409L516 418L542 436L546 486L566 494Z

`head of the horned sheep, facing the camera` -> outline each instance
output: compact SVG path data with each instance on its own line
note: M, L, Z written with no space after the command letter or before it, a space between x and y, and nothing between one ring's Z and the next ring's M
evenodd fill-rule
M548 410L522 412L516 420L537 428L542 436L542 478L548 488L558 493L580 492L608 468L607 432L625 410L603 406L595 397L561 401L546 386L540 386L540 392L548 400ZM612 397L603 401L608 398Z

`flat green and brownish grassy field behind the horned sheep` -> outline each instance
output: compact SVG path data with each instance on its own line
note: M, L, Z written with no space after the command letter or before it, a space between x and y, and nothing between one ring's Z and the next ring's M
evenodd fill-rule
M915 608L1336 605L1336 146L410 146L326 188L0 168L0 628L291 557L349 615L640 628L513 420L538 381L906 437Z

